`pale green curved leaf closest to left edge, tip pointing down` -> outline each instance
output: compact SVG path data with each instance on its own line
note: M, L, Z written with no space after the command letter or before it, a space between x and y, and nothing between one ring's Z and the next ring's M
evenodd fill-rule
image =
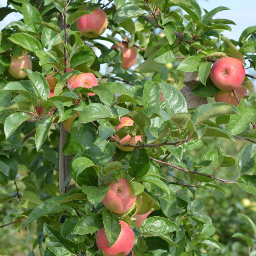
M9 138L23 122L29 119L33 119L33 116L29 116L27 113L16 112L8 116L4 122L6 139Z

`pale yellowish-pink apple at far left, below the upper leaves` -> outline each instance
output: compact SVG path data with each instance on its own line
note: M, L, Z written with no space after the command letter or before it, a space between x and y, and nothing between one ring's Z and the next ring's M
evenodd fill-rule
M32 61L25 52L21 56L12 55L11 64L7 67L9 74L17 79L24 79L26 73L19 68L32 70Z

